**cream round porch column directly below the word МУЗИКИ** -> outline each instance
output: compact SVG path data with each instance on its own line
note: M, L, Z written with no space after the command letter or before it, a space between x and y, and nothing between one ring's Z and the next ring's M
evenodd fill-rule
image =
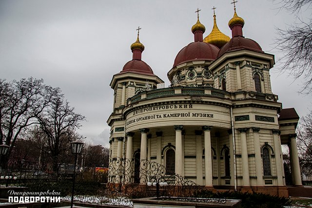
M211 160L211 126L203 126L205 141L205 187L213 187L213 167Z

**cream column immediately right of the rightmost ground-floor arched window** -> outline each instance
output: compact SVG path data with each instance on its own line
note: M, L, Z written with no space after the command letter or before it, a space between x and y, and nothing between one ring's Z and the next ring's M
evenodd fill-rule
M283 155L282 155L282 146L280 138L278 135L279 130L272 130L273 133L273 142L274 142L274 151L275 151L275 162L276 162L276 172L277 172L277 185L283 186ZM283 168L282 168L283 167Z

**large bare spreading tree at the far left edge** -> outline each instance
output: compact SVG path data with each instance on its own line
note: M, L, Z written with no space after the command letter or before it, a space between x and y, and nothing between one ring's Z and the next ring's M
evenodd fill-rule
M0 144L10 146L8 154L1 157L1 167L7 166L20 133L37 123L36 117L58 93L58 88L44 85L42 79L30 77L12 82L0 79Z

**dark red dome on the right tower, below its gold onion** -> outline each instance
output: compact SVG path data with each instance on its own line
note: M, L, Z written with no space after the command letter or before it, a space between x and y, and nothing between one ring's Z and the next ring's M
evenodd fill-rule
M240 49L249 49L264 53L260 45L256 41L249 38L244 38L242 36L235 36L220 49L218 57L220 57L222 54L226 52Z

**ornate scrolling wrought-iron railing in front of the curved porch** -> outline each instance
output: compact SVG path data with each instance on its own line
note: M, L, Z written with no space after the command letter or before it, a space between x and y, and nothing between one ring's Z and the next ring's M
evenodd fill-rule
M114 202L125 204L125 199L156 196L163 200L226 203L225 198L198 197L205 187L197 185L149 160L113 158L110 161L107 195ZM120 195L120 193L123 193ZM116 205L116 204L115 204ZM127 205L132 205L127 204Z

